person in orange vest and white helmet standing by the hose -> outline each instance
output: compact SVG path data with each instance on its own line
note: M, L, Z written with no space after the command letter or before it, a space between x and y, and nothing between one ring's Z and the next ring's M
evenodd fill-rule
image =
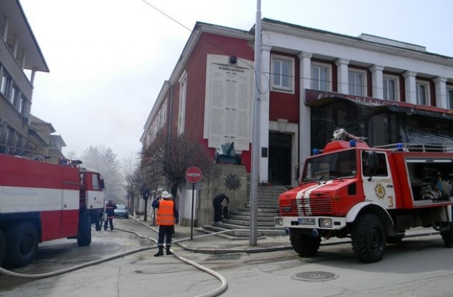
M164 238L166 238L166 254L171 255L171 235L173 235L175 222L179 222L178 209L176 209L176 204L171 199L172 197L170 193L164 191L161 194L161 199L156 199L151 204L151 206L157 209L156 223L159 225L159 237L157 239L159 251L156 252L154 257L164 255Z

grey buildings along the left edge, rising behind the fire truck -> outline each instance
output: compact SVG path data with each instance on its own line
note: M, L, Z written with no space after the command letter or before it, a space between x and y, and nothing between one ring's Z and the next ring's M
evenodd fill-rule
M18 0L0 0L1 153L62 156L61 147L65 144L61 136L55 146L59 151L50 143L50 133L55 132L52 124L30 115L37 71L49 72L49 69L21 4ZM42 129L43 123L50 127L49 131Z

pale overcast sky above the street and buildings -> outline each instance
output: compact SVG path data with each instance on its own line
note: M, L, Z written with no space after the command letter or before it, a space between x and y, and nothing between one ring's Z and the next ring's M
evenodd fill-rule
M197 21L250 30L256 0L20 0L50 73L31 112L81 156L135 156L161 86ZM163 13L149 6L151 4ZM453 57L453 1L262 0L261 15L350 36L368 33Z

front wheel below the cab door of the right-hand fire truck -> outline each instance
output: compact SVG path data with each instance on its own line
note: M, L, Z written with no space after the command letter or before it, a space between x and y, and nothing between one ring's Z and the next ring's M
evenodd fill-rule
M375 214L357 216L351 233L352 250L360 261L365 263L382 260L386 237L384 226Z

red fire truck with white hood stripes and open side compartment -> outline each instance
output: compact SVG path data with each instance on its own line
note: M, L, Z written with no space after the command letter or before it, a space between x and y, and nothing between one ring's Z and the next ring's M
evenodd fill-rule
M369 147L364 138L338 129L323 151L306 159L299 185L280 195L275 226L287 228L302 256L315 255L321 238L350 237L360 261L377 262L386 243L400 242L415 227L440 231L451 248L451 148Z

